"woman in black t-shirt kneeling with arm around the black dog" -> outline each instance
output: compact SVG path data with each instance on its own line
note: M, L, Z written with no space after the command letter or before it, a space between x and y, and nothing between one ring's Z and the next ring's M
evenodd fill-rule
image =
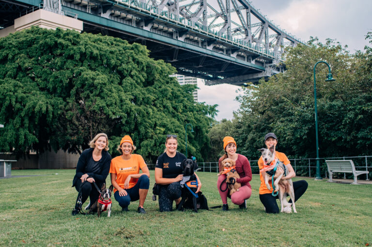
M183 170L181 163L186 156L177 152L177 135L167 135L165 140L165 151L161 154L155 165L155 182L160 185L159 192L159 210L160 212L172 211L173 200L177 204L181 201L181 185ZM198 180L198 190L200 191L202 183Z

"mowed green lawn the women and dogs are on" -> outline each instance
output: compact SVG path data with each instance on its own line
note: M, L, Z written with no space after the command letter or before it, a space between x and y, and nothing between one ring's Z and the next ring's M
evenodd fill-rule
M296 202L298 214L265 214L259 176L253 175L247 210L229 200L228 212L160 213L158 201L151 199L151 171L147 214L137 213L138 202L122 213L113 199L111 217L105 212L97 218L71 215L78 194L71 187L75 170L12 171L13 176L38 174L42 176L0 179L0 246L372 245L372 185L305 179L309 188ZM198 175L209 206L221 205L217 174Z

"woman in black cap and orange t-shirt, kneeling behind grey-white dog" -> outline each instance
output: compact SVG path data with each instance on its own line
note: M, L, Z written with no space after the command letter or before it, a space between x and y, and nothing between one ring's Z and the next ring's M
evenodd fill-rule
M275 158L279 159L280 162L282 162L285 167L288 169L289 173L287 176L283 176L281 179L282 180L287 180L287 179L292 179L296 176L294 169L288 160L287 156L284 153L280 153L275 150L277 144L278 144L278 138L274 133L267 133L264 137L264 143L267 148L270 148L274 146L274 155ZM260 170L263 168L263 159L262 156L258 160L258 166ZM280 167L278 170L280 173L283 173L283 169ZM259 194L260 194L260 200L265 207L266 213L271 213L271 214L278 214L279 213L279 207L277 204L277 199L278 196L274 197L271 193L273 189L268 190L266 185L265 185L265 179L263 178L262 174L260 173L260 180L261 180L261 185L259 189ZM269 184L271 185L271 180L269 181ZM272 187L272 185L271 185ZM300 180L300 181L294 181L293 182L293 188L294 188L294 201L297 201L298 198L300 198L308 188L308 183L305 180ZM289 200L290 205L286 206L283 209L283 212L285 213L292 213L292 200Z

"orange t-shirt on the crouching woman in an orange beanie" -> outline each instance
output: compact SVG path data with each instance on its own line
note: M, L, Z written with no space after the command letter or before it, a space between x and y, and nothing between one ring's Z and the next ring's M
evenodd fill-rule
M116 182L121 188L124 188L124 181L130 174L139 174L140 169L146 166L145 161L139 154L132 154L129 160L123 160L122 156L117 156L111 160L110 173L116 174ZM129 189L134 187L138 179L131 178ZM117 189L114 188L113 193Z

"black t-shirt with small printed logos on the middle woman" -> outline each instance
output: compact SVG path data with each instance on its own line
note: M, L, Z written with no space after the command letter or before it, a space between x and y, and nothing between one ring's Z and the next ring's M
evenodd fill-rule
M171 158L166 152L162 153L156 160L155 168L163 169L163 178L174 179L182 174L181 163L186 160L186 156L180 152Z

